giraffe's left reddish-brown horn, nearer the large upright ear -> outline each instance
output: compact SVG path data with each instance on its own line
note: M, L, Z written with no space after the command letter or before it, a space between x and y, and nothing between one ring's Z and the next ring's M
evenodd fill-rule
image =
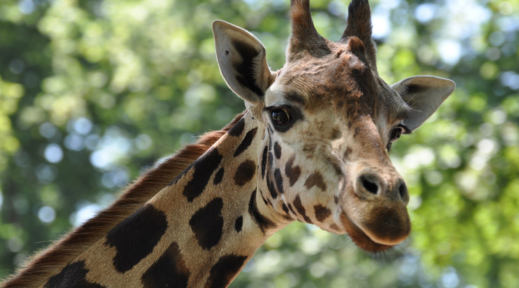
M301 54L310 53L315 57L331 53L326 40L317 33L310 15L309 0L291 0L290 18L292 20L292 35L287 50L287 61L296 60Z

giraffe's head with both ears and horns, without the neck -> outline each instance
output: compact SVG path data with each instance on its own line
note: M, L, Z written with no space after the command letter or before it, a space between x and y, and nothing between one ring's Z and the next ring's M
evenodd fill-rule
M380 79L366 0L350 3L338 42L317 33L308 0L291 6L287 62L277 72L252 34L213 23L220 71L265 127L258 190L285 218L347 233L365 250L385 250L411 230L409 194L389 159L391 143L419 127L455 84L416 76L389 86Z

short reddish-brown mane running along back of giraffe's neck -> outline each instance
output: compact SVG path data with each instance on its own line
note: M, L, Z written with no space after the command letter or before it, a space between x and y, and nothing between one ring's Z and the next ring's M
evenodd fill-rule
M112 228L140 208L153 195L172 182L183 170L200 157L218 139L220 139L238 120L239 114L218 131L211 131L195 144L187 145L174 156L159 163L143 173L130 184L119 198L107 209L100 211L80 227L75 228L63 239L51 244L43 252L36 254L24 264L22 269L3 283L3 287L35 287L50 276L58 273L63 266L71 262L77 255L98 241Z

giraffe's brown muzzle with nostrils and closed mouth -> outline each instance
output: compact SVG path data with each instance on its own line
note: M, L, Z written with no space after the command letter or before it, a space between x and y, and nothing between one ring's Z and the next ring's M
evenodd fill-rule
M409 193L393 169L384 174L365 168L343 191L341 218L347 233L364 250L386 250L404 241L411 232L407 213Z

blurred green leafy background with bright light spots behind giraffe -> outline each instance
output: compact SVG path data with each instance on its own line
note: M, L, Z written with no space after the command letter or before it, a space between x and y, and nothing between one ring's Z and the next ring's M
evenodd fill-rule
M338 40L348 3L312 0ZM458 88L393 145L413 231L384 255L292 223L231 287L519 287L519 0L372 1L379 74ZM80 225L154 161L244 108L211 22L283 66L288 0L2 0L0 278Z

